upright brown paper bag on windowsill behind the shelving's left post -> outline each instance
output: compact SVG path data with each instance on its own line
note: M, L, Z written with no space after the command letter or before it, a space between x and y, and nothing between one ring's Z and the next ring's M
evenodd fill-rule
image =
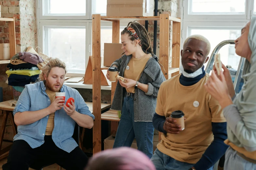
M93 56L89 57L88 65L84 75L83 84L93 84L93 65L92 65ZM110 86L111 82L106 77L107 70L100 70L100 85L101 86Z

